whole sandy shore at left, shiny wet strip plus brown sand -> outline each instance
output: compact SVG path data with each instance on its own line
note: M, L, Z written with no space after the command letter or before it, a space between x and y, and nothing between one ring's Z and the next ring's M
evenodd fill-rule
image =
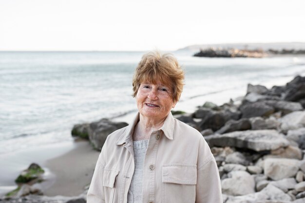
M27 151L1 154L0 197L14 190L14 180L31 163L44 170L44 181L38 186L46 196L77 196L90 184L99 152L87 140L77 139ZM5 174L5 175L4 175Z

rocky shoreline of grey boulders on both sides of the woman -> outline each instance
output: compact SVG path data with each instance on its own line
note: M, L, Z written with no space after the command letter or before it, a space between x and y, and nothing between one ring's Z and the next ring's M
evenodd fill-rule
M206 102L174 115L204 136L216 159L224 203L305 202L305 77L267 89L248 85L240 104ZM127 123L101 119L75 125L72 134L100 150L106 137ZM38 195L1 203L82 203L79 197Z

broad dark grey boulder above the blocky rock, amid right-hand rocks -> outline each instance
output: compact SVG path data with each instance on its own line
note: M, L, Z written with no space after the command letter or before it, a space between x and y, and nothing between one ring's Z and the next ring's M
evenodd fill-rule
M242 118L267 117L274 113L274 108L264 102L258 101L243 104L240 107L240 111L242 112Z

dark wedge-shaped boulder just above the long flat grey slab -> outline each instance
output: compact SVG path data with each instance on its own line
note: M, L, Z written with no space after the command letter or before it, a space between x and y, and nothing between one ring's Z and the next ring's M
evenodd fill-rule
M229 120L226 122L225 126L216 131L218 134L229 133L233 131L245 131L250 130L251 124L247 118L242 118L239 120Z

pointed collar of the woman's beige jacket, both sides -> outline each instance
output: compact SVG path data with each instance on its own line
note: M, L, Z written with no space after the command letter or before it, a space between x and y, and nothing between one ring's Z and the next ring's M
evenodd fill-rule
M126 130L118 138L116 142L117 145L122 145L124 143L128 143L133 140L133 129L136 123L138 122L138 120L139 120L139 113L136 114L136 116L133 118L133 121L127 126ZM168 139L173 139L174 122L175 121L172 116L172 112L170 112L169 115L165 118L163 126L160 129L158 129L158 131L162 130L164 135Z

